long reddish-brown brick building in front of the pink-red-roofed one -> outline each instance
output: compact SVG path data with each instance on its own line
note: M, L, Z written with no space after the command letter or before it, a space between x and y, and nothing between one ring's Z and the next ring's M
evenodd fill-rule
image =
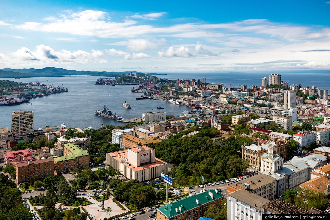
M29 160L17 162L15 164L16 183L28 182L32 176L45 178L54 175L54 159L47 158L41 160Z

